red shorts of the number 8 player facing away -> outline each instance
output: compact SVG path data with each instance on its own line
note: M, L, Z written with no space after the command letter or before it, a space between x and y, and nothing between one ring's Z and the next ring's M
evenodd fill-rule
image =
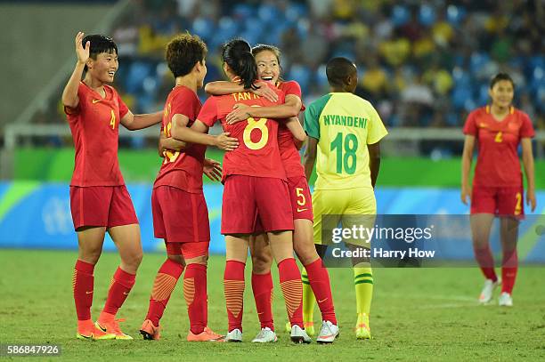
M224 183L222 234L252 234L257 215L264 231L293 230L286 181L230 175Z

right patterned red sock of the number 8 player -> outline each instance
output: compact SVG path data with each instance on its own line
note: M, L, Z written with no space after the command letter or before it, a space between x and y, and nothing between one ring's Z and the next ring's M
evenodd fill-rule
M303 326L303 283L297 262L293 258L284 259L278 264L282 294L288 310L291 326Z

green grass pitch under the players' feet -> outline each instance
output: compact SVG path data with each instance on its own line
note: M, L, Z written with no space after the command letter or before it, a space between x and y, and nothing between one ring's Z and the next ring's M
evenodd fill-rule
M515 307L495 303L479 306L476 296L483 279L478 269L375 269L375 298L371 311L372 341L356 341L353 276L350 269L330 269L341 335L333 345L294 345L283 331L286 311L275 289L274 316L280 341L255 345L256 309L249 276L242 343L185 342L188 318L182 283L176 286L165 316L162 339L142 341L78 341L72 300L72 268L77 253L58 251L0 252L0 343L61 344L53 361L200 361L200 360L545 360L545 293L543 268L522 268L514 294ZM136 285L118 316L123 330L139 337L151 284L164 257L146 254ZM118 264L105 253L95 270L93 316L106 296ZM209 263L209 326L225 332L222 276L224 257ZM249 268L247 268L247 272ZM276 273L274 278L277 279ZM319 318L316 311L315 317ZM315 320L317 322L318 320ZM19 360L18 358L13 358ZM37 358L44 360L45 358ZM34 360L34 359L33 359Z

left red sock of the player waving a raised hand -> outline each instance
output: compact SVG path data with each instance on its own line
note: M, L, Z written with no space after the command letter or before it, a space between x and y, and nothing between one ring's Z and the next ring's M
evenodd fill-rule
M93 305L94 265L85 261L76 261L72 287L74 302L76 302L77 320L91 319L91 305Z

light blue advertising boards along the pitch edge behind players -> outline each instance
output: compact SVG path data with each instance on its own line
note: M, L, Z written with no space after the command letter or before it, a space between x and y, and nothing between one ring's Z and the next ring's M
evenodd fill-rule
M138 214L145 252L164 250L161 240L153 237L149 183L127 185ZM204 186L211 231L211 253L224 253L224 237L220 235L223 187ZM521 224L519 256L522 261L545 263L545 237L536 237L536 228L545 228L545 191L538 192L541 205L535 217ZM379 214L467 214L468 206L460 202L458 189L380 188L377 191ZM455 226L448 225L452 229ZM468 235L468 227L465 229ZM539 233L538 233L539 234ZM460 238L460 237L459 237ZM468 238L468 237L466 237ZM492 250L500 250L498 230L492 231ZM115 250L110 237L106 250ZM39 181L0 182L0 248L76 249L77 237L69 210L69 184ZM472 260L471 243L455 237L443 256L455 260Z

